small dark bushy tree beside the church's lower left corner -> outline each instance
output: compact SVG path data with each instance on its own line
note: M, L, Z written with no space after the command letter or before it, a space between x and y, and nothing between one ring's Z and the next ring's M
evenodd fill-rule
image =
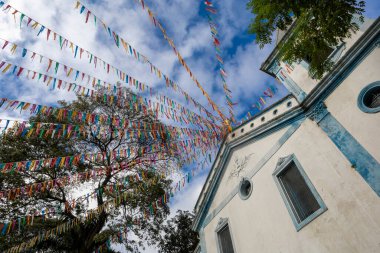
M160 253L191 253L198 245L198 233L191 229L194 215L178 210L177 215L163 225L164 234L158 247Z

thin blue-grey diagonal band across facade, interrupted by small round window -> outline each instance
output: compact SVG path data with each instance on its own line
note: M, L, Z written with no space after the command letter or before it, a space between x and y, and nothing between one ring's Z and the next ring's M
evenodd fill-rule
M247 177L252 178L256 175L257 172L260 171L261 168L272 158L272 156L282 147L282 145L293 135L293 133L299 128L304 120L301 119L297 122L294 122L292 126L281 136L281 138L273 145L273 147L268 151L268 153L260 159L260 161L256 164L256 166L248 173ZM219 186L219 185L218 185ZM239 192L239 187L236 186L223 200L222 202L213 209L205 218L202 218L204 214L207 213L209 209L209 205L211 205L212 200L216 194L218 186L214 187L214 191L210 199L208 200L208 207L205 208L203 215L201 216L201 226L202 228L206 227L218 213L235 197Z

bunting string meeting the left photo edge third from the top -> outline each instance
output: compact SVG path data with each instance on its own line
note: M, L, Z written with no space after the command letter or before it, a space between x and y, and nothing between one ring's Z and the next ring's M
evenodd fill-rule
M114 104L121 103L121 99L119 99L119 98L126 98L127 97L127 90L125 87L118 89L117 93L119 96L114 96L114 95L108 95L108 94L99 92L99 91L91 89L91 88L86 88L86 87L81 86L81 85L77 85L76 83L66 82L62 79L59 79L59 78L56 78L53 76L49 76L49 75L46 75L44 73L40 73L37 71L33 71L33 70L27 69L25 67L17 66L15 64L11 64L11 63L8 63L6 61L0 62L0 71L3 67L4 67L4 69L2 70L3 74L5 74L7 72L9 73L10 72L9 70L13 69L11 71L11 73L13 75L16 75L16 77L20 77L20 76L22 77L23 73L24 73L25 77L27 79L29 79L30 78L29 75L31 75L32 80L37 81L37 82L42 80L43 83L46 83L46 86L49 86L49 85L51 86L51 90L54 90L56 88L67 91L67 92L70 92L70 90L71 90L72 92L75 92L78 96L86 96L86 97L91 97L93 99L102 99L102 100L107 101L111 104L112 103L114 103ZM68 89L66 90L67 86L68 86ZM103 86L99 85L98 88L99 87L103 87ZM104 88L106 88L106 87L104 87ZM139 103L141 103L145 107L150 108L152 111L154 111L155 112L154 115L157 118L158 117L166 117L167 119L171 119L171 120L173 120L175 122L179 122L181 124L188 124L188 125L193 124L193 125L196 125L198 127L201 127L201 125L203 123L203 125L207 126L209 129L212 129L212 127L210 126L210 124L212 124L211 122L205 120L204 118L198 117L195 114L187 114L187 112L189 112L189 111L181 111L181 113L184 113L184 115L183 115L180 112L178 112L176 109L174 109L172 107L168 107L168 106L166 106L163 103L160 103L158 101L157 102L151 101L150 99L147 100L146 98L143 98L143 97L136 95L134 93L132 93L131 96L133 98L133 104L132 104L132 101L129 101L129 102L125 101L125 103L129 104L132 108L137 108L136 110L140 109ZM159 110L159 108L161 108L161 110ZM142 111L140 110L140 112L142 112L145 115L150 115L150 112L148 110L146 110L144 108L141 108L141 109L142 109Z

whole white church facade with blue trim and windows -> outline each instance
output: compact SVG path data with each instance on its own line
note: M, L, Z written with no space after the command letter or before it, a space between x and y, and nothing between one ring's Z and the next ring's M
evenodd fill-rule
M278 52L261 69L290 94L221 145L195 206L197 252L380 252L380 19L334 48L318 81Z

